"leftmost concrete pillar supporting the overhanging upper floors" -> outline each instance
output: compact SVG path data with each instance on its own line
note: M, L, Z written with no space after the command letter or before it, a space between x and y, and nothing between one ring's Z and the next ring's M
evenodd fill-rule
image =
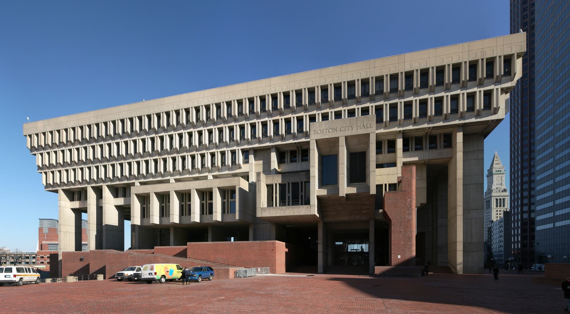
M71 209L72 192L58 190L58 220L59 220L59 245L58 245L58 267L59 274L62 274L62 253L70 251L81 251L81 212ZM79 229L79 230L78 230Z

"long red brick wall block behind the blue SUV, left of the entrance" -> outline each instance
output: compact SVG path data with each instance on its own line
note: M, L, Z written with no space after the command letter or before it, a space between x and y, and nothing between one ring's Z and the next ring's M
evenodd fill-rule
M281 241L189 242L188 257L228 265L270 267L272 274L286 272L290 246ZM294 246L291 246L294 254Z

